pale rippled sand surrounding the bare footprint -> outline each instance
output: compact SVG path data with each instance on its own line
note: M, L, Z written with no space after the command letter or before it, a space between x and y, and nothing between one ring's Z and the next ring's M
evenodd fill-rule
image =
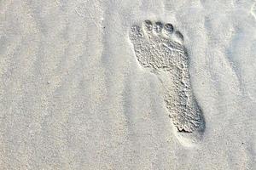
M143 20L183 33L193 145L137 62ZM0 169L256 169L256 2L0 1Z

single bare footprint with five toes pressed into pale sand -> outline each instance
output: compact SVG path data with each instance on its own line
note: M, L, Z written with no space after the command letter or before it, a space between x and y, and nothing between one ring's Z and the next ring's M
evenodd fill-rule
M156 74L162 84L177 139L184 145L198 144L205 122L189 80L183 34L172 24L145 20L142 26L131 27L129 37L138 63Z

